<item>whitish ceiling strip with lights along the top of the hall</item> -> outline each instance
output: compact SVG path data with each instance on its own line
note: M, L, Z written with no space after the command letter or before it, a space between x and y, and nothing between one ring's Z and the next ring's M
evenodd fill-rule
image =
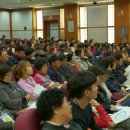
M43 8L47 6L63 6L69 3L86 4L87 2L111 2L114 0L0 0L0 8ZM55 5L53 5L55 4Z

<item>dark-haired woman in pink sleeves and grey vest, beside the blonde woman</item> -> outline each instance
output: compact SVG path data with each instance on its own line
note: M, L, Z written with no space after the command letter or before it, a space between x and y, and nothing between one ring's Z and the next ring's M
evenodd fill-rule
M58 87L60 85L59 82L53 82L47 75L49 63L47 62L46 59L38 57L35 59L34 65L35 68L37 69L37 72L34 75L34 79L37 84L40 84L45 88Z

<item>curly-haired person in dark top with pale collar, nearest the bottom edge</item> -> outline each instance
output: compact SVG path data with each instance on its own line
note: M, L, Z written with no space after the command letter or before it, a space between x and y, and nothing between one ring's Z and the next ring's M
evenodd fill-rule
M71 106L60 89L42 92L37 101L37 112L44 121L42 130L82 130L71 121Z

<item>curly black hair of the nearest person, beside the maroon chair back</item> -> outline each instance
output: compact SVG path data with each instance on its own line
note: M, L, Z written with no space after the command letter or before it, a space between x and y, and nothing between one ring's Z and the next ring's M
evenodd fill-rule
M64 92L58 88L43 91L37 100L37 111L43 121L50 120L54 108L60 108L63 104Z

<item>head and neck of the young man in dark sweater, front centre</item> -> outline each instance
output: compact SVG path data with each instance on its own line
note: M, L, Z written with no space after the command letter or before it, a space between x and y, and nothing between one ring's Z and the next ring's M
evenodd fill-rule
M67 92L71 98L82 100L84 107L91 99L97 97L97 79L90 71L80 71L74 75L67 85ZM81 107L83 107L81 106Z

